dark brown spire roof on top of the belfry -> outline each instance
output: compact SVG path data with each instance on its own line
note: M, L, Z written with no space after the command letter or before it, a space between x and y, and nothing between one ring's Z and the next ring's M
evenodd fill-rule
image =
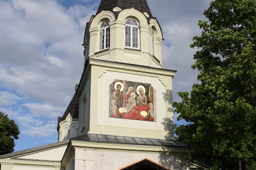
M102 10L113 10L116 6L122 10L134 7L142 13L147 12L149 14L149 18L153 17L146 0L101 0L97 14Z

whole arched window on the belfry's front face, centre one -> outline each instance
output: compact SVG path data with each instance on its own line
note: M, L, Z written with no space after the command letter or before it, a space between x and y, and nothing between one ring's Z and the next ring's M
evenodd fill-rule
M139 48L139 24L133 19L125 22L125 47Z

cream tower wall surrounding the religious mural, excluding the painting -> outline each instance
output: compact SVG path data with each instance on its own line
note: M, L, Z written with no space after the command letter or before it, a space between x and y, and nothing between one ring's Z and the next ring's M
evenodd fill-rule
M151 70L143 67L90 61L91 64L91 96L90 96L90 128L88 133L121 135L139 138L174 139L173 133L167 137L162 122L164 118L173 121L173 113L167 112L171 107L164 101L163 93L172 90L174 72ZM84 75L86 76L86 75ZM157 122L125 120L109 117L109 84L114 80L149 83L156 90ZM85 84L81 82L82 84ZM82 86L81 89L84 87ZM85 90L83 90L85 91ZM79 92L83 98L84 92ZM79 113L81 113L81 109ZM81 122L81 120L80 120ZM172 132L172 129L170 129Z

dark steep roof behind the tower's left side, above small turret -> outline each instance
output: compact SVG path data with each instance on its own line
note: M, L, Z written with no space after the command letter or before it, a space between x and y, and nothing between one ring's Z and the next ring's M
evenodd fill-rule
M59 129L59 123L61 121L64 121L68 114L70 113L70 115L73 117L73 118L78 118L78 111L79 111L79 98L77 98L76 94L73 96L73 98L71 99L65 113L63 114L62 117L58 117L58 128L57 130Z

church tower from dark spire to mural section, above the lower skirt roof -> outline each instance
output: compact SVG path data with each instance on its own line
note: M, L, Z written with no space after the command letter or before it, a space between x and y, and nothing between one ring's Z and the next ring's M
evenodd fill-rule
M146 0L101 1L85 29L78 135L174 139L163 94L176 71L162 69L162 41Z

